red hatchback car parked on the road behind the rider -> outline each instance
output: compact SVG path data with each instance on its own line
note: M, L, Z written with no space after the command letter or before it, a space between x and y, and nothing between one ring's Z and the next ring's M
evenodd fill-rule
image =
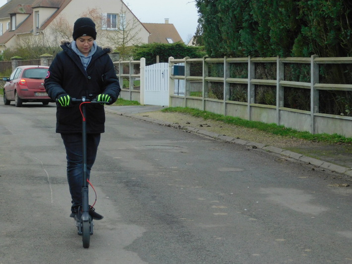
M17 107L27 102L42 102L43 105L54 102L44 88L48 69L48 66L19 66L9 78L2 78L6 81L3 87L4 105L9 105L11 101L15 101Z

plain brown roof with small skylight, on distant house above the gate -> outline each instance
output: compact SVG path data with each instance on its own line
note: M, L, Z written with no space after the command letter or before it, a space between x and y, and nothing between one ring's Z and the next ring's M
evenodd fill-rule
M168 44L168 38L173 42L182 42L174 24L161 23L142 23L143 26L150 32L148 43L164 43Z

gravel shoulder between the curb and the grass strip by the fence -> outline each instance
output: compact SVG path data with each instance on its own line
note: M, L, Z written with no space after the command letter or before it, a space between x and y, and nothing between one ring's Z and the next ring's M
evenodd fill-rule
M352 168L352 145L351 144L326 144L311 142L302 139L288 138L269 134L256 129L245 128L225 124L215 120L204 120L184 113L152 111L137 113L136 115L152 119L163 120L180 126L201 128L220 135L232 138L261 143L273 146L304 156L317 158L340 166Z

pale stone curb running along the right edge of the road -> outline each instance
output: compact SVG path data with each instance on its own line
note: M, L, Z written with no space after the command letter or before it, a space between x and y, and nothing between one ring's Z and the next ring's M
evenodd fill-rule
M214 139L219 139L225 142L229 142L229 143L235 143L238 145L244 145L246 147L252 148L252 149L261 149L261 150L265 150L271 153L275 153L278 155L282 155L285 157L289 157L289 158L293 158L302 162L305 162L307 164L311 164L314 165L316 167L320 167L322 169L327 169L330 170L331 172L337 172L340 174L344 174L347 175L349 177L352 177L352 168L349 167L344 167L341 165L336 165L330 162L326 162L320 159L316 159L316 158L311 158L311 157L307 157L304 156L302 154L299 153L295 153L292 151L288 151L288 150L284 150L284 149L280 149L277 147L273 147L273 146L267 146L264 145L262 143L257 143L257 142L250 142L250 141L246 141L246 140L242 140L242 139L238 139L238 138L232 138L226 135L220 135L214 132L210 132L210 131L206 131L206 130L202 130L202 129L198 129L198 128L194 128L194 127L189 127L189 126L181 126L178 123L170 123L167 121L162 121L162 120L158 120L158 119L153 119L153 118L149 118L146 116L140 116L140 115L135 115L135 114L131 114L131 113L126 113L126 112L120 112L117 110L112 110L109 109L107 107L105 107L105 111L106 112L110 112L110 113L115 113L115 114L119 114L119 115L123 115L123 116L127 116L127 117L131 117L131 118L135 118L135 119L140 119L140 120L144 120L147 122L151 122L151 123L155 123L155 124L159 124L159 125L163 125L163 126L169 126L169 127L173 127L176 129L182 129L186 132L189 133L195 133L195 134L200 134L203 136L207 136L210 138L214 138Z

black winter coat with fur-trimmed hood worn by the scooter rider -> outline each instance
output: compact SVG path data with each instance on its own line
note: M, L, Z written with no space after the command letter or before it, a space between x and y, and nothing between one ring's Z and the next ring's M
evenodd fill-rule
M45 89L53 100L60 94L68 94L72 98L81 99L82 96L95 98L105 93L111 96L115 103L120 92L120 85L114 64L109 56L110 49L97 47L92 59L84 70L79 56L71 49L69 42L61 46L62 50L54 58L45 79ZM104 106L100 104L86 104L87 133L103 133L105 123ZM82 115L79 104L61 107L57 104L57 133L81 133Z

